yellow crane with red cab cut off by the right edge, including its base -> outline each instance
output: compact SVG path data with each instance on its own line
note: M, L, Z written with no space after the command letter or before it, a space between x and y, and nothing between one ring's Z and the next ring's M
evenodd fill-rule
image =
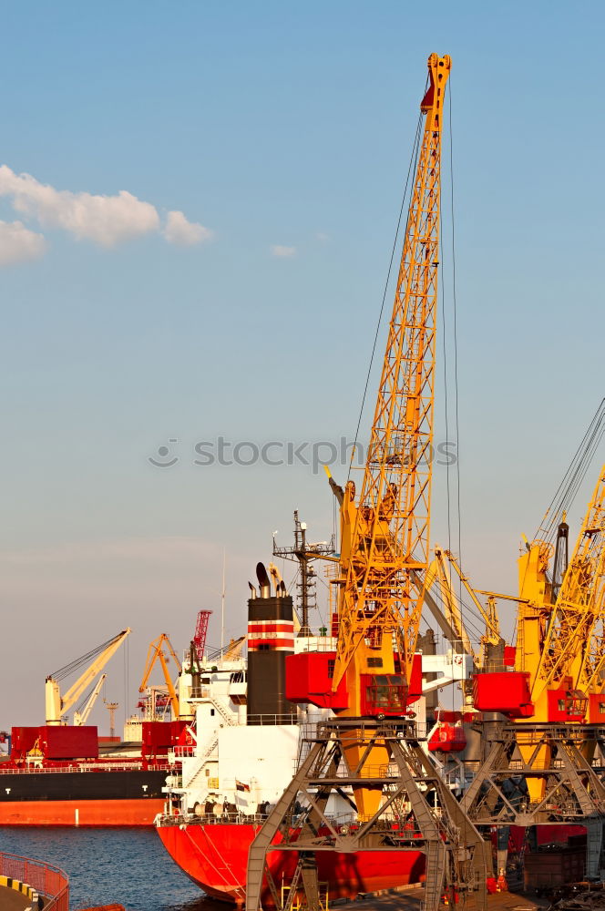
M586 873L597 878L605 787L592 756L605 707L605 466L565 568L557 551L568 530L563 517L557 549L536 539L519 558L515 671L488 670L474 681L477 709L514 723L484 727L485 761L461 804L481 825L585 825ZM516 807L506 793L517 775L527 797ZM504 865L506 851L498 855Z

